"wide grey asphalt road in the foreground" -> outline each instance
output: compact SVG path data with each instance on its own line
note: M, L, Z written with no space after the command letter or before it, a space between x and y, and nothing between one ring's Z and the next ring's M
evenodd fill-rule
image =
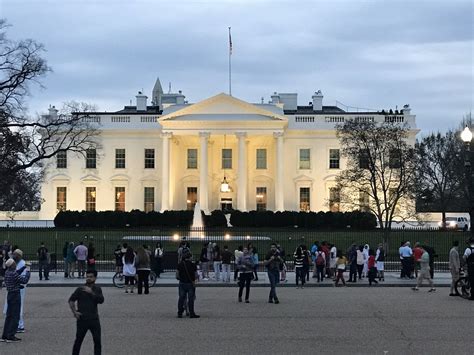
M0 353L70 353L73 290L29 288L23 341L0 343ZM103 354L472 354L474 302L448 297L447 288L426 291L286 287L276 305L266 303L263 287L251 290L250 304L237 303L236 288L203 287L196 300L201 318L178 319L176 288L139 296L107 287L99 306ZM88 335L82 354L92 349Z

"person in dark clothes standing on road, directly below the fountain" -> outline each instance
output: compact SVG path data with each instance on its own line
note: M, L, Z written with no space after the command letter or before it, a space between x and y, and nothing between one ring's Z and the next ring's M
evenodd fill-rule
M178 264L177 276L179 280L178 291L178 318L183 318L185 311L184 302L188 300L188 311L190 318L199 318L194 311L194 300L196 298L196 265L191 261L192 254L189 249L183 249L182 260Z

